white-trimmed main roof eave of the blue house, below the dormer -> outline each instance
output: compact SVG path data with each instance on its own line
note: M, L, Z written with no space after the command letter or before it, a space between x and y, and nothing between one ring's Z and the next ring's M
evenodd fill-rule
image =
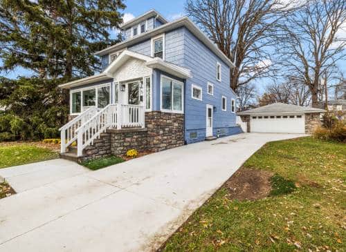
M180 27L186 27L194 36L196 36L204 45L206 45L212 52L215 53L220 59L224 61L228 66L234 67L234 64L226 55L224 55L224 52L221 52L219 48L213 43L206 35L199 30L199 28L188 18L188 17L182 17L181 19L176 19L170 23L165 23L162 26L158 26L158 28L155 28L154 30L149 30L145 33L142 33L132 39L128 39L126 41L122 41L120 43L117 43L113 46L109 46L108 48L105 48L103 50L100 50L98 52L95 52L94 55L103 56L107 55L110 52L116 52L117 50L122 50L124 48L127 48L129 46L133 46L136 43L143 42L145 40L151 39L152 37L155 37L157 35L161 35L163 32L168 32L170 30L174 30L176 28Z

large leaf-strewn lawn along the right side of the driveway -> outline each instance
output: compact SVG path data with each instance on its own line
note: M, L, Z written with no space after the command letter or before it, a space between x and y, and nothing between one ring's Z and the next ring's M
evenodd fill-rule
M311 137L266 144L244 164L293 192L230 200L221 187L163 251L346 251L346 144Z

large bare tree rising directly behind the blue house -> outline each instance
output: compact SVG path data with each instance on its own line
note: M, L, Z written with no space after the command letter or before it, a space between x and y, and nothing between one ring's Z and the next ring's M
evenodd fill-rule
M271 50L278 22L289 12L282 0L188 0L186 12L235 63L230 87L238 93L270 73Z

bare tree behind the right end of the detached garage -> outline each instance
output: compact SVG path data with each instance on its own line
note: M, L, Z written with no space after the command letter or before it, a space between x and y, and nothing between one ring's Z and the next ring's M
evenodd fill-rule
M291 12L282 27L286 37L278 47L285 72L302 77L313 107L319 106L321 79L345 59L346 0L307 0Z

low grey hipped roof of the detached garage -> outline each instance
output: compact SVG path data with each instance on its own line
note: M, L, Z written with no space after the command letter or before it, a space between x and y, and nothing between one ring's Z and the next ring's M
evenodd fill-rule
M253 115L253 114L266 114L266 113L322 113L325 110L320 108L310 108L297 106L293 104L283 104L277 102L275 104L269 104L260 108L253 108L237 113L238 115Z

